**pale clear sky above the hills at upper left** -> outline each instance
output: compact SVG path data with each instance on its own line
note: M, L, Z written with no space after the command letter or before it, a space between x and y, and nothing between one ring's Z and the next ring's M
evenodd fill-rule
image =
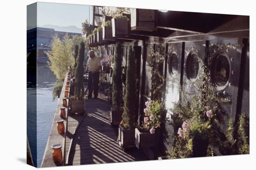
M92 6L38 2L37 25L74 25L81 28L81 23L89 20L89 11L92 22Z

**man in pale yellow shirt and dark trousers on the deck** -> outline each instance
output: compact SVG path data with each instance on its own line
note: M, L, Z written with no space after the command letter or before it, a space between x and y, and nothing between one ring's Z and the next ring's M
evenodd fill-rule
M99 79L101 70L101 59L96 57L93 50L89 51L89 59L87 61L87 70L91 73L88 78L88 99L92 98L94 91L94 99L98 97Z

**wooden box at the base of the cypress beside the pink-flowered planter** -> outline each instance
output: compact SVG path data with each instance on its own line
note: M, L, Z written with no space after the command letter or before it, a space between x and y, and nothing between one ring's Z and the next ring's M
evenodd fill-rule
M135 147L135 129L128 130L119 125L117 142L122 149Z

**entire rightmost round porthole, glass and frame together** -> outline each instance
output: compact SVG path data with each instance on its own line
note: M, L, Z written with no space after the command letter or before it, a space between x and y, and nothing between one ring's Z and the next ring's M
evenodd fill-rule
M229 84L231 66L229 57L220 51L213 57L211 64L211 79L218 90L222 90Z

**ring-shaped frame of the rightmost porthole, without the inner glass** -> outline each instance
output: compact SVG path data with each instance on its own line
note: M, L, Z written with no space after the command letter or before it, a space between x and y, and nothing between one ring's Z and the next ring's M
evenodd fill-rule
M220 56L225 57L229 63L229 78L228 78L227 82L222 86L218 85L216 78L215 78L216 64L218 61L218 57L220 57ZM218 91L224 90L229 85L230 77L231 77L231 61L229 59L229 56L224 51L217 51L214 54L214 56L212 57L211 65L210 65L210 78L211 78L211 83L212 83L213 87L216 88L216 90L218 90Z

